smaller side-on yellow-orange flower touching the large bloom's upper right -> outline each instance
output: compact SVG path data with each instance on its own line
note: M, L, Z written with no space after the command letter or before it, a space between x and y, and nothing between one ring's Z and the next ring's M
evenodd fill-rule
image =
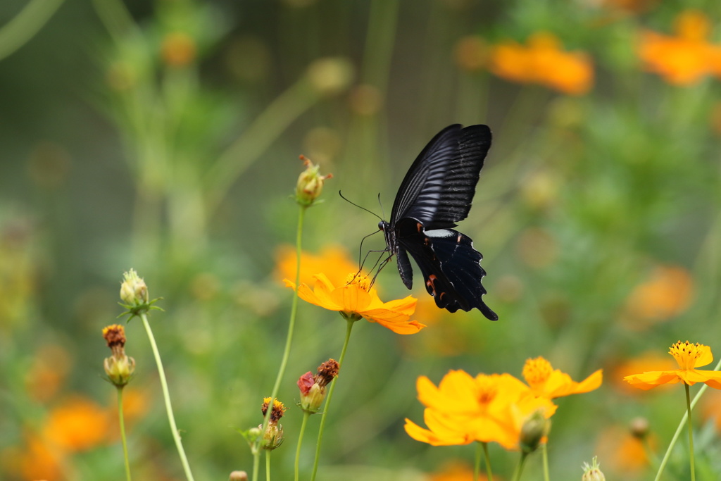
M539 356L535 359L528 359L523 365L523 379L526 379L528 386L536 396L554 399L597 389L601 386L603 374L601 369L598 369L583 381L575 382L571 376L559 369L553 369L551 363Z

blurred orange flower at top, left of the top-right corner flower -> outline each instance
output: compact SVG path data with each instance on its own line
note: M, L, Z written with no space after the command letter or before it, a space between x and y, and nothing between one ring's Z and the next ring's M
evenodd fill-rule
M593 85L593 65L583 52L566 52L558 38L538 32L528 46L509 40L492 47L493 74L522 84L541 84L571 95L585 94Z

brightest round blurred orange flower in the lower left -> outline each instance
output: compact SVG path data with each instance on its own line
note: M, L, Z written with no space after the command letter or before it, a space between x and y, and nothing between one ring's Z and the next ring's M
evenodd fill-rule
M108 436L110 413L86 397L74 396L50 412L43 439L66 451L83 451Z

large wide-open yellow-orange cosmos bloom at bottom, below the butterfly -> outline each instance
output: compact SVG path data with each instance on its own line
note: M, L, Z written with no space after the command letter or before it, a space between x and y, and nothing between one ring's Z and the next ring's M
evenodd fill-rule
M426 406L428 429L406 419L408 436L433 446L495 441L505 449L518 449L523 424L536 412L550 418L556 406L510 374L449 371L438 387L425 376L416 383L418 400Z

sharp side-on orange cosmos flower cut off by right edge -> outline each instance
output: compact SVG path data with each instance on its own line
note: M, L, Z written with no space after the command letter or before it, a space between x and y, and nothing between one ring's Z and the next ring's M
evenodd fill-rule
M676 384L679 381L689 386L702 382L715 389L721 389L721 372L696 369L713 361L709 346L678 341L671 346L668 353L676 359L678 369L632 374L624 377L624 381L639 389L652 389L660 384Z

